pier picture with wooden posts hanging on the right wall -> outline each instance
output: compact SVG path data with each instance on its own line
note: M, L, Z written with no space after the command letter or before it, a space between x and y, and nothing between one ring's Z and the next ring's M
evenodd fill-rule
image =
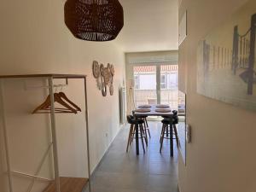
M198 46L197 92L256 112L256 2L249 1Z

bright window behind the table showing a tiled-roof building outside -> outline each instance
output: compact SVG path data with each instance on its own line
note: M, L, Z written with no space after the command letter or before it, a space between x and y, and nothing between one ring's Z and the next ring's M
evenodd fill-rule
M133 67L136 105L169 104L177 110L177 65Z

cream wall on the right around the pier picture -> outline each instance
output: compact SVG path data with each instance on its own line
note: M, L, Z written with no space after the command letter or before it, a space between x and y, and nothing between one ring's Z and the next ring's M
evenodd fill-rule
M192 143L187 166L179 160L181 192L254 192L256 114L196 93L196 49L246 0L183 0L188 10L188 37L179 48L180 89L187 92ZM255 1L250 1L255 4Z

